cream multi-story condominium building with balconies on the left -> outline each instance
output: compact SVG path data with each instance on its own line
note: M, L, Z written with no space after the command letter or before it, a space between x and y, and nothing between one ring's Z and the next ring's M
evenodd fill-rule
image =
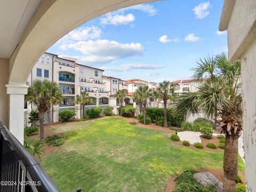
M76 118L83 115L81 106L74 103L76 95L81 92L87 92L92 101L86 103L85 108L112 106L114 107L114 113L117 113L116 108L120 105L120 102L115 94L118 90L126 89L128 94L123 104L133 105L132 95L139 85L149 85L151 89L156 88L156 83L153 82L142 79L125 81L116 77L104 76L102 75L103 71L102 69L81 65L73 58L60 58L57 54L44 53L31 70L27 83L31 85L35 79L48 79L59 85L63 101L60 105L52 106L53 122L59 121L59 111L64 109L75 110ZM25 103L25 108L26 126L27 114L32 109L36 109L36 106ZM47 122L46 116L45 122Z

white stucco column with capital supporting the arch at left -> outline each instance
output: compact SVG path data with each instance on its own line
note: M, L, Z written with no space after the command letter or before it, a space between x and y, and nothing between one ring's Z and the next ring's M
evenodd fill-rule
M9 130L23 145L24 142L24 99L28 93L28 85L23 83L9 83L7 94L9 97Z

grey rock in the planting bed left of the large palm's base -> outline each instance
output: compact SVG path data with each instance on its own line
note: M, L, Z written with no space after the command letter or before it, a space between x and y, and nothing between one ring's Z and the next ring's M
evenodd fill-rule
M222 191L223 183L210 172L195 173L193 177L204 186L214 185L217 192Z

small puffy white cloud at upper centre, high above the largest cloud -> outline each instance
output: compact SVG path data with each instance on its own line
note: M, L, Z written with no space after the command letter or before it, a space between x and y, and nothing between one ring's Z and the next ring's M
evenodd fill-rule
M100 18L100 23L103 25L127 25L135 20L132 13L129 14L115 14L107 13L106 18Z

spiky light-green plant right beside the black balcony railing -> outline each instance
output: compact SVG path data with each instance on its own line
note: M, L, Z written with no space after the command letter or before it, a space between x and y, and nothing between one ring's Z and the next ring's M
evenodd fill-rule
M42 158L44 152L44 141L38 137L25 137L24 138L24 147L28 152L35 156L38 159Z

